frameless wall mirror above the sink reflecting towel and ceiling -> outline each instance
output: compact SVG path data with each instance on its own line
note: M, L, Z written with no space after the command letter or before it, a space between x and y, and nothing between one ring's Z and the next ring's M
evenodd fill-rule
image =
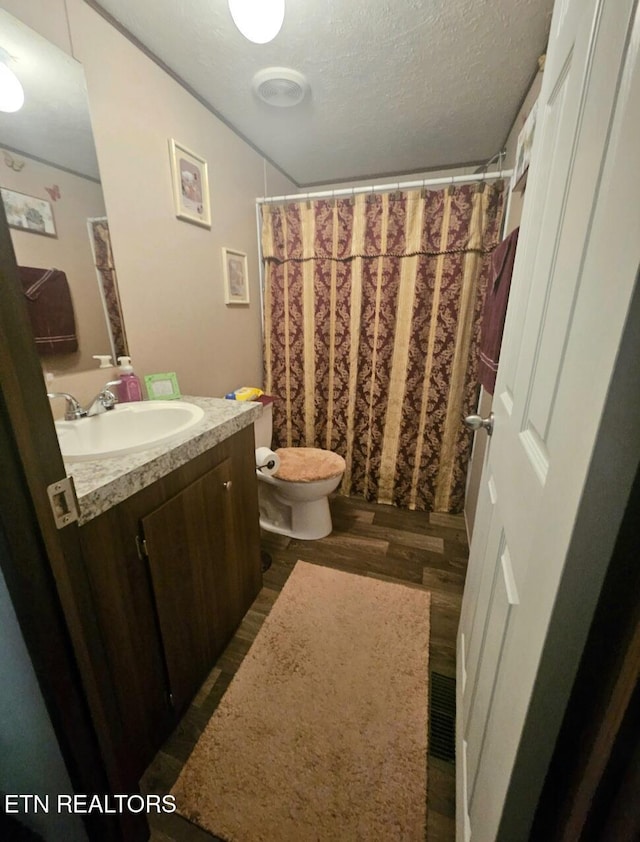
M0 60L24 105L0 111L0 188L43 369L127 354L82 66L0 9Z

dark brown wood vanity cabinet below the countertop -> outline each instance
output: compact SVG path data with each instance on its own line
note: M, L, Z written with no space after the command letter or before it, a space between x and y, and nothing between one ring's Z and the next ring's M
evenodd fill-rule
M262 585L253 426L80 527L132 786Z

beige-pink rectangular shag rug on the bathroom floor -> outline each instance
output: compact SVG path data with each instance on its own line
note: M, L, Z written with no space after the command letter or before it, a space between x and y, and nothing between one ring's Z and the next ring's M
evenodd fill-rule
M430 594L298 561L172 793L228 842L423 842Z

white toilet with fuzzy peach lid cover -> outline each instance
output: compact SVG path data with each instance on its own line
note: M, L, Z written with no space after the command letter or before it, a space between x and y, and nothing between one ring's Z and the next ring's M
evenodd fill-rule
M262 415L254 423L256 448L270 447L273 400L260 399ZM256 468L260 526L267 532L312 541L332 530L329 494L342 481L342 456L317 447L282 447L275 451L278 470L265 474Z

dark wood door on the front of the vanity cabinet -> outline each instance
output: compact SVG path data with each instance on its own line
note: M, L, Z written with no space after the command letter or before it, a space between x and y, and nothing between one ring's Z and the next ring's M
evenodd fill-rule
M208 674L233 622L225 599L233 498L232 460L227 458L142 519L178 711Z

